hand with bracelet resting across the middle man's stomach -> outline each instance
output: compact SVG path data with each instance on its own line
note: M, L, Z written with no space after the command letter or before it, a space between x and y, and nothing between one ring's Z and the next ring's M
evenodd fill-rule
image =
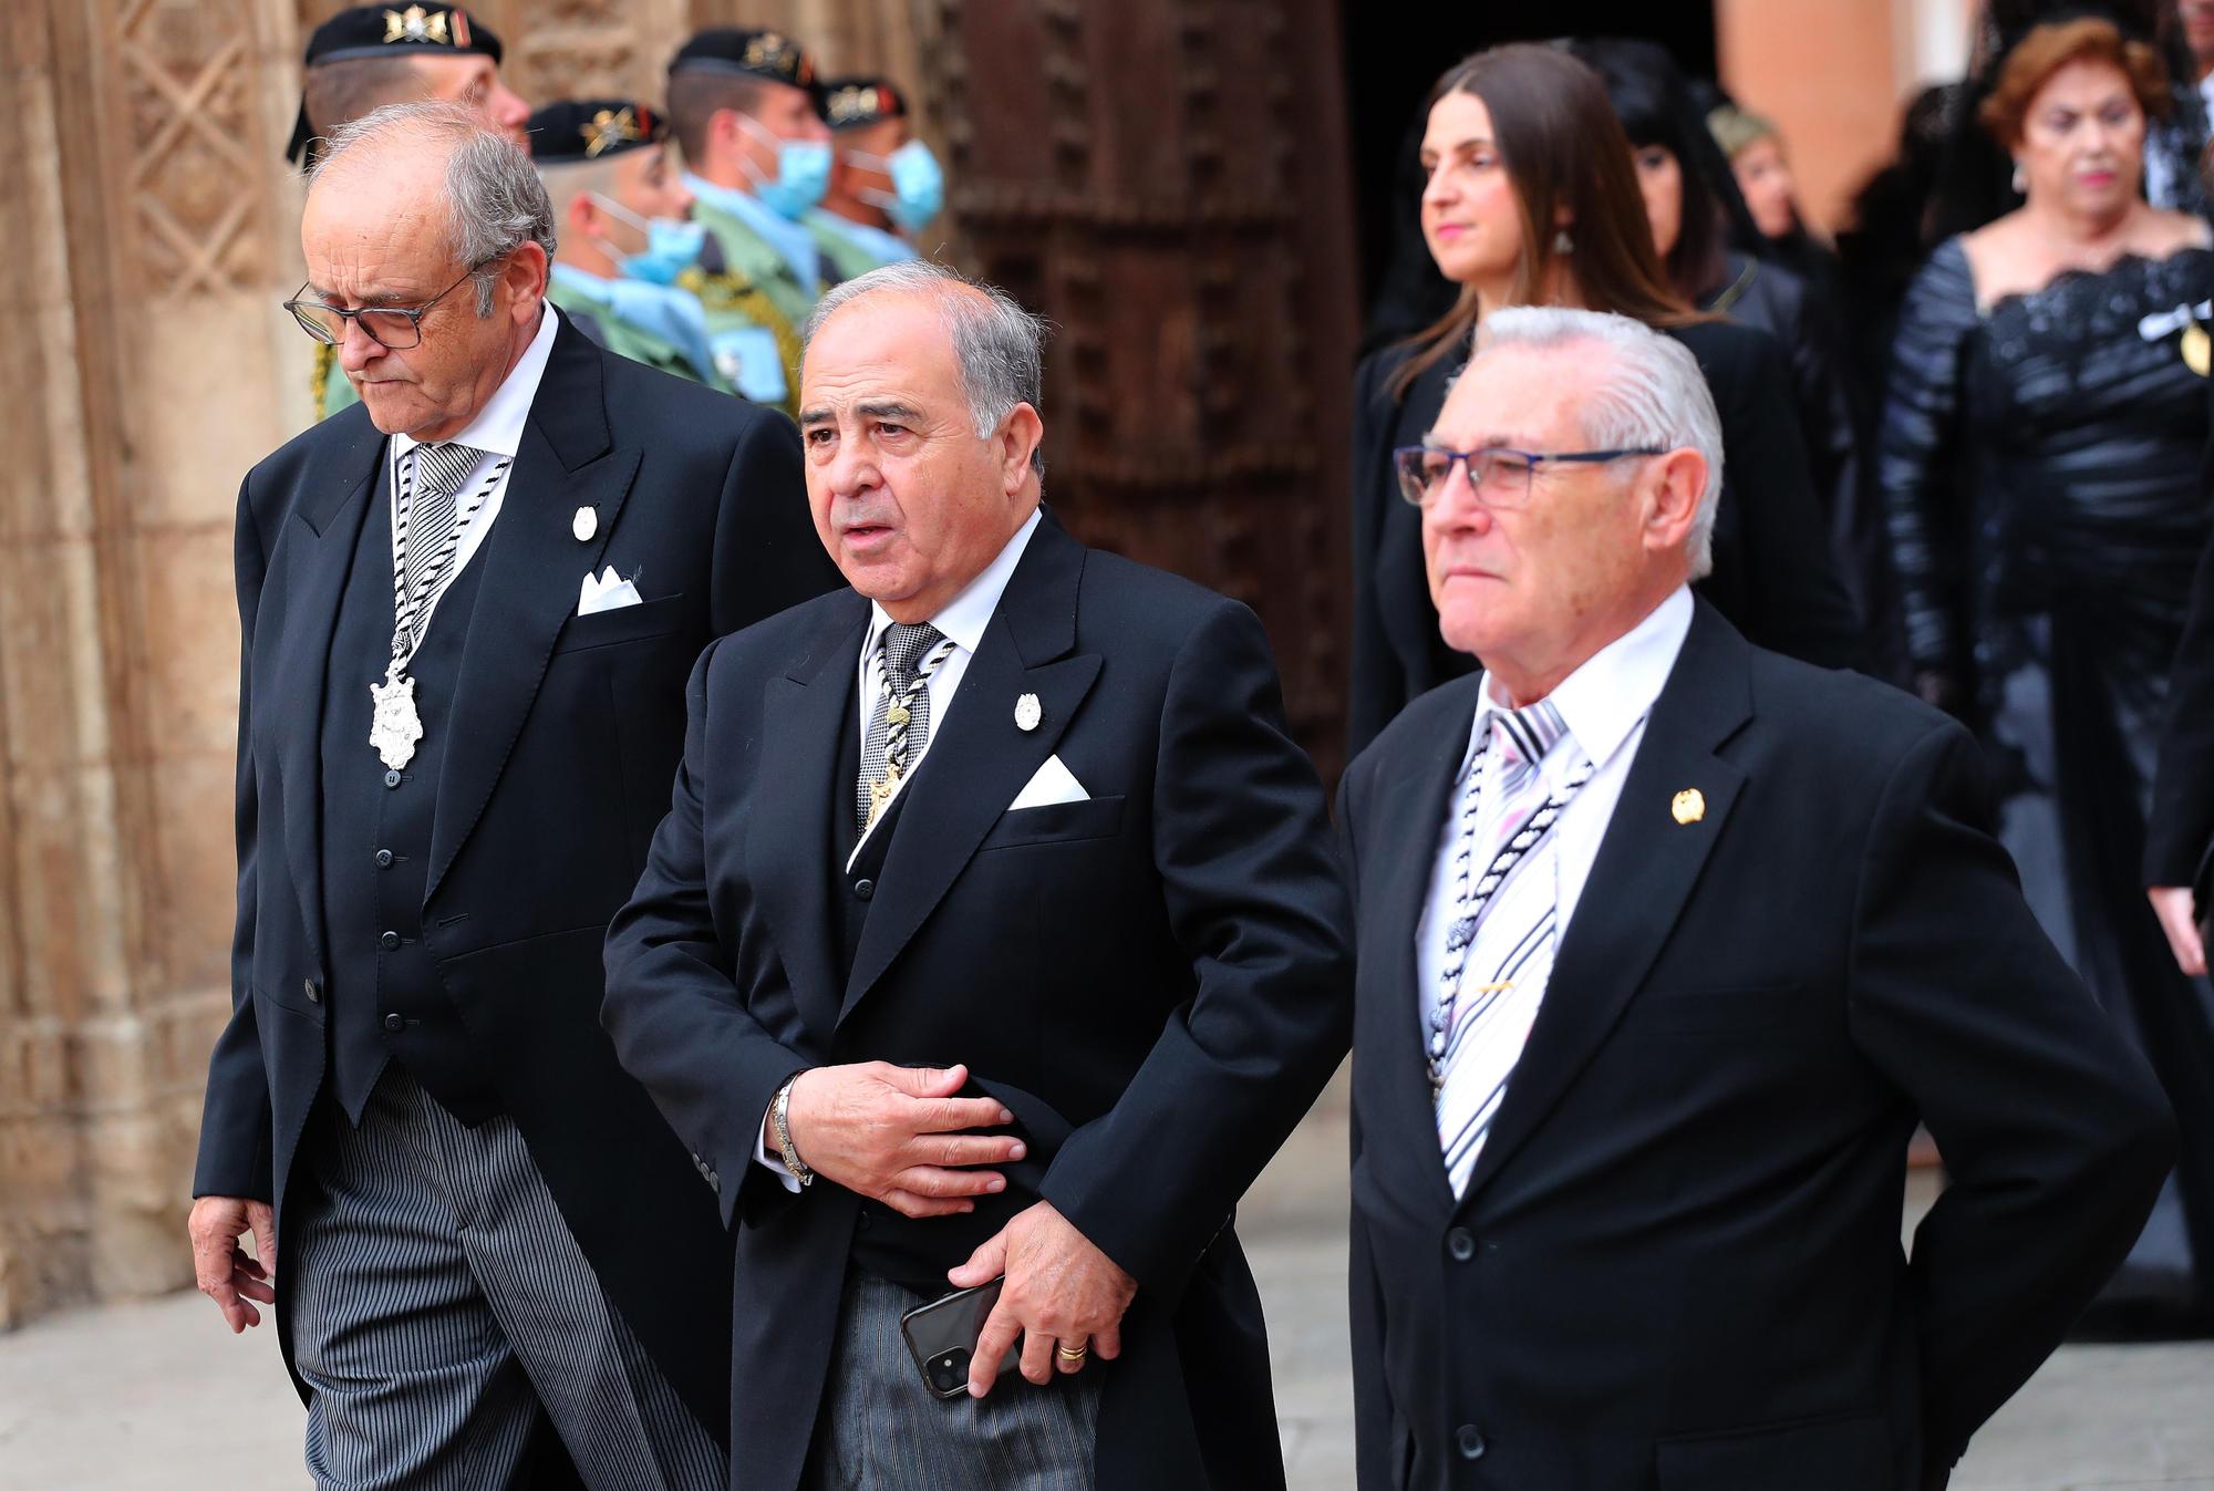
M786 1108L793 1148L824 1179L903 1217L974 1212L970 1197L1005 1190L1007 1177L970 1166L996 1166L1027 1150L1014 1135L963 1133L1014 1122L996 1097L954 1097L965 1082L965 1066L817 1066L793 1084ZM775 1155L773 1113L762 1137Z

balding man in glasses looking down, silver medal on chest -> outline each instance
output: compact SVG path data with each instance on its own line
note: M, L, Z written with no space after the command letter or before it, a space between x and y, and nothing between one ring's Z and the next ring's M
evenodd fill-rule
M600 1033L600 938L693 657L837 577L799 438L547 307L545 190L467 106L334 131L301 246L363 407L239 493L199 1285L275 1307L317 1487L545 1484L556 1438L596 1491L722 1487L731 1245Z

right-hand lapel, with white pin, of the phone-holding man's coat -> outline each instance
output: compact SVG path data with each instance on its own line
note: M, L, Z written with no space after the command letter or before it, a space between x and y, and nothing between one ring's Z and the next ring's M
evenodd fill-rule
M846 980L841 1022L937 909L1092 692L1098 655L1069 655L1083 569L1083 544L1052 518L1041 522L961 677L945 728L901 792L899 827ZM1014 723L1014 703L1025 692L1038 695L1043 712L1034 730Z

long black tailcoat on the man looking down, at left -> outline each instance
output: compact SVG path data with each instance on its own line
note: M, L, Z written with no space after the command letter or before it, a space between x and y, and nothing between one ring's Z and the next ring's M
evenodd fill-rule
M239 491L239 920L195 1195L275 1201L323 1084L321 712L385 438L345 409ZM576 509L598 511L589 542ZM797 431L560 325L483 553L438 779L423 927L445 991L569 1230L702 1422L728 1243L713 1195L600 1029L600 938L666 810L684 675L717 633L826 591ZM578 617L587 569L644 604ZM368 754L368 741L361 743ZM279 1283L290 1290L290 1272ZM277 1312L290 1360L290 1310Z

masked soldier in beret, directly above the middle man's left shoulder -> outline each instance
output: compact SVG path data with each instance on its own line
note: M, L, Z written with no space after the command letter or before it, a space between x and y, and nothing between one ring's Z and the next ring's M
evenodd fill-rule
M669 124L708 239L677 283L706 307L717 372L790 414L799 325L824 290L804 221L830 184L815 62L777 31L700 31L669 64Z

